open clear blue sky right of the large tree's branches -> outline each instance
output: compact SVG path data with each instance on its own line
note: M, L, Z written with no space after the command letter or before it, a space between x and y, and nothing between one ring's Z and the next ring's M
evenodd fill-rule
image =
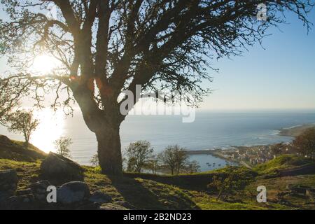
M315 24L315 11L309 19ZM220 72L214 74L210 87L215 91L202 109L315 110L315 27L307 35L295 16L287 21L281 31L269 29L272 36L263 41L265 50L255 45L242 57L213 62ZM0 59L0 72L7 69Z

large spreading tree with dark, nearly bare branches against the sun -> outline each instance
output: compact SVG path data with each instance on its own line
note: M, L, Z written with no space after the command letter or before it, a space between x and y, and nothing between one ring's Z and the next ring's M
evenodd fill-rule
M309 27L313 7L311 0L1 0L1 53L10 68L1 82L25 86L39 106L51 94L52 107L66 113L76 102L97 137L102 172L119 175L124 90L190 92L197 104L209 92L200 84L211 80L211 59L260 42L286 11ZM59 65L49 74L31 72L43 54Z

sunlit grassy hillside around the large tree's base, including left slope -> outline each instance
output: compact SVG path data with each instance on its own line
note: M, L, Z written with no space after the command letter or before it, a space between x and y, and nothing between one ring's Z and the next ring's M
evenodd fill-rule
M33 146L25 150L21 142L6 137L0 136L0 140L0 170L18 172L18 190L26 190L31 183L43 180L39 169L45 153ZM286 176L270 175L307 165L314 165L314 161L283 155L253 169L225 167L179 176L126 173L119 178L85 167L84 181L92 193L102 191L111 195L114 202L127 202L136 209L315 209L314 198L290 190L300 186L315 189L315 169L307 175L288 175L290 172ZM244 184L228 190L218 200L218 190L209 188L209 183L217 177L226 179L230 174ZM55 186L62 185L61 181L49 181ZM265 204L256 201L258 186L267 187Z

